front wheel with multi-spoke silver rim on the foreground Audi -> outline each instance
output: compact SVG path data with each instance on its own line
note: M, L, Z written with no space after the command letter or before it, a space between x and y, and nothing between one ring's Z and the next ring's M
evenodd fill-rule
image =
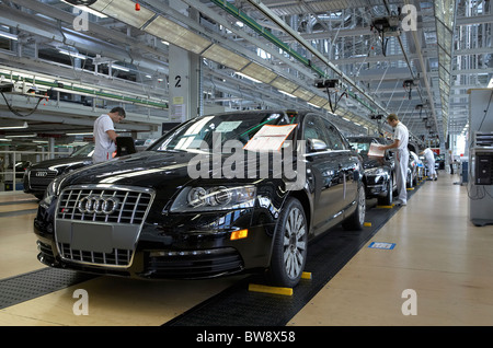
M288 198L274 235L268 282L278 287L295 287L305 269L307 246L308 223L303 207L298 199Z

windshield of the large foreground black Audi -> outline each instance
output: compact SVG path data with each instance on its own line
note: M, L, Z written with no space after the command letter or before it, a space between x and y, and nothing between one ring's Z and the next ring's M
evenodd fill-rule
M222 114L194 118L169 131L148 148L148 151L204 151L213 149L213 139L220 136L221 144L228 140L246 142L264 125L289 125L293 119L285 113L255 112ZM204 146L207 146L206 148ZM215 143L215 148L217 148Z

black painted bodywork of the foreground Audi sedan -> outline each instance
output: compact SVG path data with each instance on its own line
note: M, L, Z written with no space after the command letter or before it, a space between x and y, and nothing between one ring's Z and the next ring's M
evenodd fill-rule
M299 139L306 115L300 113L297 117L300 127L295 130L295 137ZM287 190L284 178L226 181L229 185L254 183L256 186L254 207L228 211L170 211L172 202L187 185L225 184L223 178L191 179L185 164L194 153L149 150L87 166L57 178L59 190L73 185L104 185L107 182L111 183L108 186L147 187L154 192L130 267L62 259L55 242L57 197L49 206L42 201L34 221L41 243L38 259L53 267L141 278L202 278L265 269L271 260L279 212L287 197L297 198L303 206L310 239L356 210L355 196L362 185L363 166L359 156L348 150L347 142L345 146L347 149L344 150L307 153L306 182L297 192ZM126 175L128 173L131 175ZM231 241L231 233L242 229L249 230L248 237ZM194 251L209 251L214 255L194 255Z

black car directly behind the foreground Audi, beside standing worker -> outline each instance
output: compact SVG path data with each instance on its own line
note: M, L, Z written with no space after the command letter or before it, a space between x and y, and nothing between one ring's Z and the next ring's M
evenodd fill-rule
M387 139L380 137L348 137L353 149L363 158L365 175L363 182L366 187L367 198L377 198L382 206L392 205L393 192L397 190L393 158L389 150L383 158L368 156L371 143L388 144Z

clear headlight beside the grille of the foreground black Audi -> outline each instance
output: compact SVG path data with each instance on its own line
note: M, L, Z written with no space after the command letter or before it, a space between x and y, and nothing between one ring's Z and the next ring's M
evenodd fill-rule
M170 212L211 211L251 208L256 195L255 186L187 186L179 194Z

